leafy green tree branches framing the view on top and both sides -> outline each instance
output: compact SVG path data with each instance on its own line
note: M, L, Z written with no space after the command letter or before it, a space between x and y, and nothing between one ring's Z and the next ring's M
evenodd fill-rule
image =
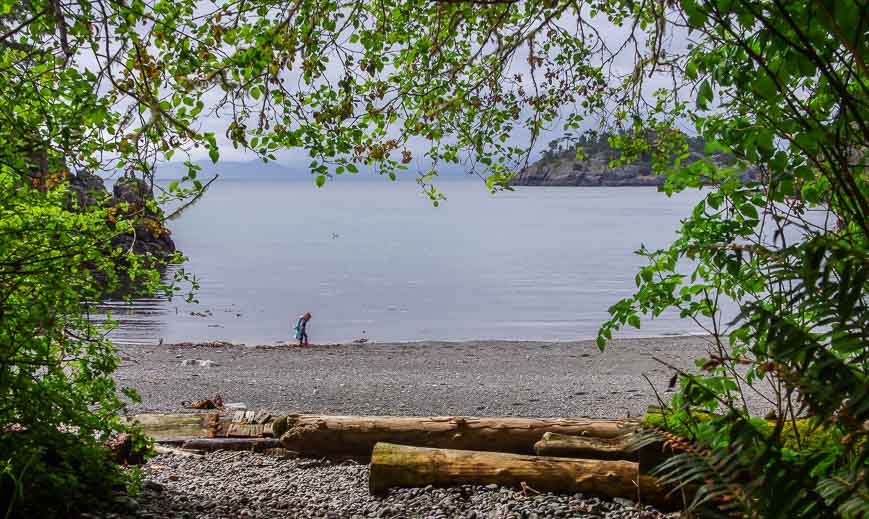
M715 184L671 247L641 249L650 265L637 277L637 294L611 309L599 337L603 346L618 327L639 326L641 314L668 307L713 323L704 373L682 374L663 423L699 454L678 458L667 474L700 483L697 506L764 517L865 513L866 17L856 0L0 0L8 228L0 238L7 255L0 391L42 391L49 380L88 387L68 373L62 354L78 348L85 366L99 366L82 368L98 376L81 400L111 414L113 352L85 340L88 307L80 301L99 296L96 270L120 264L123 276L131 269L156 279L133 256L100 246L128 223L109 222L98 208L70 210L64 183L34 187L34 172L124 170L150 182L155 163L196 148L216 161L218 136L199 128L219 116L221 141L263 160L306 151L317 185L360 164L395 178L418 158L412 144L425 142L422 158L433 166L416 173L437 203L439 164L468 161L490 189L507 188L544 128L597 125L621 150L618 160L651 156L669 192ZM620 28L617 45L597 28L601 20ZM625 59L634 68L620 72ZM686 126L708 151L730 153L737 164L684 166L693 142L680 130ZM187 164L187 178L166 197L201 191L197 167ZM762 171L760 182L740 182L747 166ZM61 259L50 253L73 250ZM51 273L17 266L34 258ZM680 270L682 258L695 261L689 272ZM44 290L26 291L21 280ZM729 327L722 298L741 310ZM25 321L23 308L42 311ZM20 353L40 348L52 355L54 377L40 368L19 379ZM773 383L772 425L741 403L741 392L761 381ZM97 424L102 411L89 415L71 401L45 399L31 419L22 398L4 399L7 437L16 437L10 424L34 431L40 424L45 434L90 424L80 439L115 429ZM700 410L725 416L690 418ZM823 448L804 445L797 418L808 414L809 436L821 434ZM788 443L794 436L796 448ZM29 481L27 463L8 459L3 481ZM697 468L703 463L733 470L710 475ZM783 478L784 471L798 477Z

